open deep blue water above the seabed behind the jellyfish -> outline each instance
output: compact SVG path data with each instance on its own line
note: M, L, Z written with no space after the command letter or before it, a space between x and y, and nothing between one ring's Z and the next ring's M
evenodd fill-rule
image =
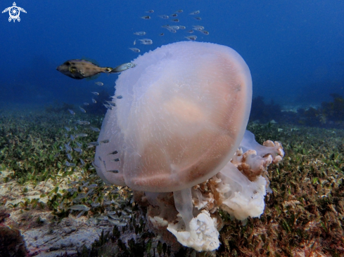
M74 80L56 67L65 60L91 58L115 67L163 44L186 40L162 25L203 25L197 41L234 48L248 63L254 96L281 105L319 104L330 93L344 95L344 1L28 1L15 2L27 13L20 22L0 15L0 102L47 105L54 100L79 104L98 89L95 81ZM1 1L0 9L12 6ZM146 13L148 10L154 13ZM180 22L158 15L183 9ZM189 15L199 10L202 20ZM151 20L143 20L151 15ZM147 32L151 46L136 44L133 32ZM164 33L163 37L159 36ZM117 74L101 74L113 92Z

